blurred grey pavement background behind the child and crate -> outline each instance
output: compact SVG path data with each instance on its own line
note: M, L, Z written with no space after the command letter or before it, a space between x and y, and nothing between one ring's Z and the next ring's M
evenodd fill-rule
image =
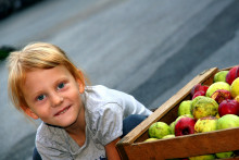
M238 27L237 0L0 0L0 159L32 159L40 123L8 98L9 51L58 45L92 85L155 109L202 71L239 64Z

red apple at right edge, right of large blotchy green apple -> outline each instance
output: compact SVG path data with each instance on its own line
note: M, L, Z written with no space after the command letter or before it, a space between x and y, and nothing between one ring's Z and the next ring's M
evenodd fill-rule
M239 102L235 99L227 99L219 103L218 106L219 116L225 114L239 115Z

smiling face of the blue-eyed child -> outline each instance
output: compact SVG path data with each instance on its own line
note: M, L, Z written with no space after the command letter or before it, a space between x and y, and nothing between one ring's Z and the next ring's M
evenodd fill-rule
M51 125L70 126L83 108L84 86L62 65L27 72L22 89L29 107L25 112Z

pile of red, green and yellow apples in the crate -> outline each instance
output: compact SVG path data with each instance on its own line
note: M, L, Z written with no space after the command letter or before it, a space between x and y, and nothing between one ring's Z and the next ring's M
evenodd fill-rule
M191 100L184 100L178 118L171 124L155 122L149 127L146 141L203 132L239 127L239 65L214 75L212 85L197 84ZM229 158L235 151L190 157L188 159Z

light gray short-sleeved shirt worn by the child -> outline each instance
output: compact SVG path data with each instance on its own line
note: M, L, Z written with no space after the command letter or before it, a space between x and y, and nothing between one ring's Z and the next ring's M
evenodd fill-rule
M86 119L85 144L78 146L64 128L41 123L36 146L43 160L105 159L104 146L123 134L124 118L151 113L134 97L104 86L87 86L81 99Z

